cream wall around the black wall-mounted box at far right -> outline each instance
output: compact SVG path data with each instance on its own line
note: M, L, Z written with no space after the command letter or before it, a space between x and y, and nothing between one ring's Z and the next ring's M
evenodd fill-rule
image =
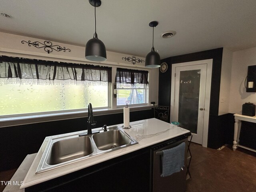
M233 52L229 113L242 114L242 104L245 102L256 103L256 93L246 92L244 86L248 66L251 65L256 65L256 47Z

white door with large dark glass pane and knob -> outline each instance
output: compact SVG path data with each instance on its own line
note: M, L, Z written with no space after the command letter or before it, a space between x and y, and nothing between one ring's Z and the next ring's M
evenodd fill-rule
M202 144L207 64L175 67L172 121L190 130L192 142Z

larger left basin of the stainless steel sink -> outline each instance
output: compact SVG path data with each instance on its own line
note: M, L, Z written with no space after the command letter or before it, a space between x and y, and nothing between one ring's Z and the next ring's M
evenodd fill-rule
M77 137L64 139L52 144L49 156L46 160L48 165L56 165L92 154L94 148L89 137Z

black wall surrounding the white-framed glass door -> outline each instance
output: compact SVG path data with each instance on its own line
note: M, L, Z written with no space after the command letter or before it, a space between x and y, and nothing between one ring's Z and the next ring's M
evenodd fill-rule
M218 116L222 51L223 48L218 48L165 58L161 62L168 64L168 70L164 73L159 71L158 104L161 106L170 106L172 64L213 59L208 147L215 149L225 144L225 132L222 127L223 124L221 124L225 116Z

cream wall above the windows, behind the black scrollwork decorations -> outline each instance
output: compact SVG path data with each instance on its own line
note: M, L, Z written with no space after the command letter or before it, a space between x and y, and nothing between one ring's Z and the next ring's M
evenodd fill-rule
M149 102L158 102L158 68L148 69L145 68L145 62L132 64L124 58L132 57L132 55L121 54L116 52L107 51L107 60L104 62L92 62L84 58L85 47L74 46L70 44L63 44L59 42L52 42L53 45L59 45L62 48L70 49L71 51L53 51L48 54L44 51L44 48L36 48L34 46L28 46L27 43L22 44L22 40L28 42L44 42L45 40L31 38L27 36L20 36L14 34L8 34L0 32L0 55L14 56L14 57L24 57L31 59L41 59L41 60L52 60L60 62L71 62L71 63L81 63L81 64L93 64L101 66L110 66L113 68L130 68L138 70L148 70L149 71ZM122 43L122 42L120 42ZM141 59L145 61L145 58L137 57L136 59Z

